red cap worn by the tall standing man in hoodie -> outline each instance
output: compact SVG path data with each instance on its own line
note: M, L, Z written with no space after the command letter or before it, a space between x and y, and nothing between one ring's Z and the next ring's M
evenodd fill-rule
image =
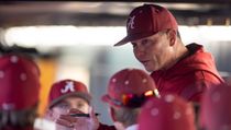
M156 4L143 4L130 13L127 21L127 36L114 46L148 37L168 28L177 31L178 25L167 9Z

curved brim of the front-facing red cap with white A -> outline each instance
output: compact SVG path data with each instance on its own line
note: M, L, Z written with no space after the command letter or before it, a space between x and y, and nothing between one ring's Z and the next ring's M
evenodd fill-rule
M66 97L70 97L70 96L76 96L76 97L84 98L89 105L91 104L91 96L90 95L88 95L86 93L74 92L74 93L65 94L65 95L59 96L56 99L52 101L52 103L50 103L48 107L52 108L54 105L56 105L62 99L64 99Z

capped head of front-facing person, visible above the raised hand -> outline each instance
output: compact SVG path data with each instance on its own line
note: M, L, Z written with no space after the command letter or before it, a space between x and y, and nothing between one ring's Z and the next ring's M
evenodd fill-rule
M51 109L76 108L88 113L91 96L86 85L75 80L62 80L52 85L48 98Z

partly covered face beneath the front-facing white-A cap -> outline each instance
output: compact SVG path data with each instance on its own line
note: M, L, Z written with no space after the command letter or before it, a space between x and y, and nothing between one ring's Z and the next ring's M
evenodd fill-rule
M66 97L52 107L54 113L62 115L65 115L72 108L78 109L85 114L89 113L89 104L87 101L76 96Z

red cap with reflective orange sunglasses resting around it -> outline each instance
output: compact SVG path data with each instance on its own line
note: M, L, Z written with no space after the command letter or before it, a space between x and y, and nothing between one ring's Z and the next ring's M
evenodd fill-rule
M158 96L153 79L142 70L124 69L111 76L108 84L108 93L102 96L102 101L112 106L129 107L124 104L129 97L136 96L138 98L134 102L140 99L140 103L143 104L145 99L139 97L142 97L145 93ZM139 103L135 107L140 107Z

